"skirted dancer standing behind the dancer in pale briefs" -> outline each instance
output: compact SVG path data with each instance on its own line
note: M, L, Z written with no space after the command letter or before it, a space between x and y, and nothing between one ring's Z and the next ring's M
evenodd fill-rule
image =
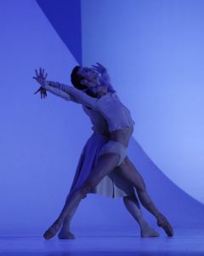
M38 91L41 91L41 98L45 98L47 96L46 90L40 88L40 90L37 90L37 92ZM99 112L94 111L93 109L87 108L85 106L83 106L82 108L84 112L88 114L88 117L94 125L92 128L94 130L94 133L88 139L88 142L82 149L82 155L77 166L77 172L71 185L69 195L71 195L71 191L73 189L80 188L80 186L82 186L82 183L85 182L86 178L88 177L94 166L97 164L100 149L105 145L105 143L108 142L109 137L108 126L103 116ZM156 230L150 228L150 225L144 219L139 207L139 201L137 199L137 196L135 195L133 185L127 182L126 179L121 177L118 172L116 172L116 169L107 176L105 176L102 181L100 181L99 184L92 191L90 191L90 193L110 196L112 198L122 196L124 205L125 207L127 207L128 212L132 214L133 218L135 218L139 224L140 236L159 236L159 233L156 232ZM73 218L73 214L65 218L62 228L58 234L59 239L75 238L70 230L71 218Z

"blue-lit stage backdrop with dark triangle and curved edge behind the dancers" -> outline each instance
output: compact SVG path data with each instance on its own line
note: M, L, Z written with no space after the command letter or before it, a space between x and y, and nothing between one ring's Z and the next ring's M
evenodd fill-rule
M70 84L81 61L105 64L133 113L128 154L161 212L176 227L204 223L204 3L126 3L0 2L0 235L41 235L64 204L91 125L80 106L34 96L31 77L44 67ZM73 229L87 228L137 232L122 200L99 195L74 218Z

